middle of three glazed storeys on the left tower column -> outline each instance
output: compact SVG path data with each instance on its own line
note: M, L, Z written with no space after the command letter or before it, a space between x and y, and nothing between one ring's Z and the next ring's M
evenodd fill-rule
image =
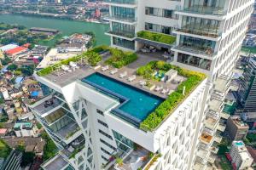
M135 26L112 22L112 29L110 33L122 37L133 38L135 37Z

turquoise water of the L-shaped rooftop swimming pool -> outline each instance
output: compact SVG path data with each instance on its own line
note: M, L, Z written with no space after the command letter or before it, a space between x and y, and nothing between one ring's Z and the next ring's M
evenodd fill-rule
M139 122L142 122L164 100L99 73L94 73L83 80L85 80L84 82L92 82L92 84L102 87L103 90L105 88L128 99L123 105L119 106L119 110L135 117Z

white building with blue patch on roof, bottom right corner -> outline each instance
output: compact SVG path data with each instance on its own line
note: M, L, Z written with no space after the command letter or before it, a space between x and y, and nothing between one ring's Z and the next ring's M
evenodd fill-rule
M247 147L242 141L233 141L230 150L232 163L236 164L237 169L247 169L253 164L253 157L247 151Z

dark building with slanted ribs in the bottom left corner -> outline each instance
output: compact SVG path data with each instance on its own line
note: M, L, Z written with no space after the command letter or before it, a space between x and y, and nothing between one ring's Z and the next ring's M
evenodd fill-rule
M21 170L21 158L22 154L19 151L12 150L0 170Z

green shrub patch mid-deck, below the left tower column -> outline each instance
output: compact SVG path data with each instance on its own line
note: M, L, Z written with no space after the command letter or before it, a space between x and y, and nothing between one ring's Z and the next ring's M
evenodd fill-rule
M115 68L121 68L137 60L137 54L135 53L124 52L117 48L109 48L109 51L112 56L105 63Z

